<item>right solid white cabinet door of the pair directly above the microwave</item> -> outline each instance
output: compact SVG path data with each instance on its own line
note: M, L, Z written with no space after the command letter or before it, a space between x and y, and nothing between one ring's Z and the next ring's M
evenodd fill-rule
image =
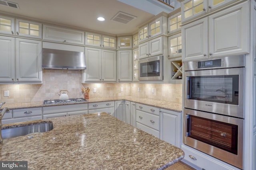
M149 41L149 56L163 54L163 37L158 37Z

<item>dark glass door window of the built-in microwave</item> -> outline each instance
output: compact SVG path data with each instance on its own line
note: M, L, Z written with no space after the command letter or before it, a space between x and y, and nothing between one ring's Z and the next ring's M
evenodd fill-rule
M140 63L140 76L160 76L160 60Z

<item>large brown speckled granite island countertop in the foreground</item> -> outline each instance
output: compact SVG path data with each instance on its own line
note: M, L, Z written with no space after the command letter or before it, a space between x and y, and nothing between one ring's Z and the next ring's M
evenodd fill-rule
M28 169L152 170L167 168L184 158L180 148L106 113L49 121L53 122L52 131L35 133L31 139L4 139L0 160L28 161Z

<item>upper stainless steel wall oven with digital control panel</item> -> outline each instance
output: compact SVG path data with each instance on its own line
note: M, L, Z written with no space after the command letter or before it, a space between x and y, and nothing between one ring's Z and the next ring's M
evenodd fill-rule
M244 55L183 64L184 107L244 118Z

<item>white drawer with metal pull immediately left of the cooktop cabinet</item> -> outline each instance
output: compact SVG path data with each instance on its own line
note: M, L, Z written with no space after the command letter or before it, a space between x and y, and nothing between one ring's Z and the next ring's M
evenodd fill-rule
M30 117L42 115L42 107L12 110L12 117Z

